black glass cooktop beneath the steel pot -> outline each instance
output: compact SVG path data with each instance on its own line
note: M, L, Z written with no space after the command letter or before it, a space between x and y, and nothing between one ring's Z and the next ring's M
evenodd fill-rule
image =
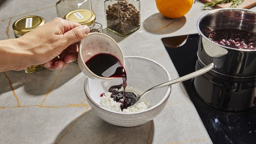
M162 41L180 77L195 72L198 34L165 37ZM256 109L221 111L195 96L192 79L184 81L183 86L214 144L256 144Z

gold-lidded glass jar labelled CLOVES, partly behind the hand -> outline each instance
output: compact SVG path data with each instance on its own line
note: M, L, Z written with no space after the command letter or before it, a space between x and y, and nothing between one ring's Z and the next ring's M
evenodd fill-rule
M87 9L78 9L72 12L69 12L65 15L64 19L72 20L80 23L81 25L87 25L90 28L91 32L100 32L102 33L102 25L96 23L96 15L93 11Z

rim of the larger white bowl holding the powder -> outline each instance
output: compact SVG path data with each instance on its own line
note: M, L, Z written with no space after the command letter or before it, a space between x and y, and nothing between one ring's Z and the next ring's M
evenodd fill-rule
M125 58L139 58L139 59L145 59L145 60L149 60L153 63L156 63L157 65L159 65L160 67L162 67L162 69L166 72L167 74L167 78L169 79L169 81L171 81L171 77L169 75L169 72L162 66L160 65L159 63L157 63L156 61L154 60L151 60L149 58L144 58L144 57L140 57L140 56L126 56ZM87 99L89 101L91 101L96 107L100 108L100 109L103 109L105 111L108 111L108 112L111 112L111 113L115 113L115 114L120 114L120 115L137 115L137 114L140 114L140 113L144 113L144 112L148 112L148 111L151 111L153 109L156 109L157 107L160 107L161 104L163 104L164 101L166 101L167 98L169 98L169 96L171 95L171 89L172 89L172 85L171 86L167 86L168 89L164 95L164 97L162 98L161 101L159 101L156 105L154 105L154 107L150 107L149 109L146 109L146 110L143 110L143 111L140 111L140 112L129 112L129 113L125 113L125 112L116 112L116 111L113 111L113 110L110 110L110 109L107 109L105 107L102 107L101 105L97 104L90 96L88 96L89 94L87 93L87 91L85 90L85 84L86 82L88 81L88 77L85 78L84 80L84 92L85 92L85 95L87 97Z

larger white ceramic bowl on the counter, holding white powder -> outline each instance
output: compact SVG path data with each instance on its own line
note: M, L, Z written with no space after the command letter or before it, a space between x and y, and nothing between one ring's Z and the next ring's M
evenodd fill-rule
M141 92L171 80L169 73L163 66L148 58L125 57L125 69L127 85ZM122 84L122 78L102 81L86 78L84 82L84 92L90 107L100 118L117 126L134 127L151 121L163 110L171 93L171 86L149 92L146 97L152 105L145 111L134 113L115 112L102 107L99 101L102 92L107 92L110 86L118 84Z

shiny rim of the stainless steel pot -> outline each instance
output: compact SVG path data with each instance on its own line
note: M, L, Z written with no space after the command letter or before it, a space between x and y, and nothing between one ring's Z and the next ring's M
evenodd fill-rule
M197 29L198 29L198 32L200 35L202 35L206 40L210 41L211 43L217 45L217 46L221 46L221 47L224 47L225 49L232 49L232 50L236 50L236 51L242 51L242 52L254 52L256 51L256 49L236 49L236 48L231 48L231 47L228 47L228 46L223 46L221 44L218 44L218 43L215 43L213 42L212 40L210 40L208 37L206 37L200 30L200 22L201 20L204 19L204 17L208 16L209 14L212 14L212 13L215 13L215 12L218 12L218 11L230 11L230 10L236 10L236 11L244 11L244 12L252 12L254 14L256 14L256 11L253 11L253 10L250 10L250 9L241 9L241 8L222 8L222 9L214 9L214 10L211 10L205 14L203 14L201 17L199 17L198 21L197 21Z

